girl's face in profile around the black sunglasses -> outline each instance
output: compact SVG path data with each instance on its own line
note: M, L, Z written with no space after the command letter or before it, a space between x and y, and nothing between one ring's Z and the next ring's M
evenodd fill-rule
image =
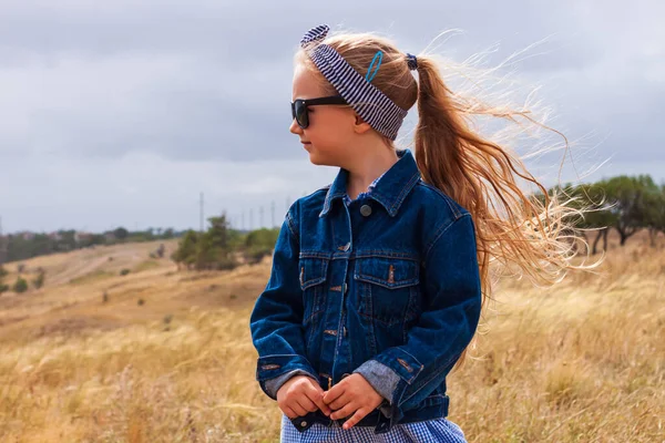
M304 65L296 65L294 73L293 100L318 99L335 95L326 91L317 79ZM315 165L345 166L352 152L356 114L348 105L308 106L309 125L301 128L294 119L289 131L300 137L303 147L309 153Z

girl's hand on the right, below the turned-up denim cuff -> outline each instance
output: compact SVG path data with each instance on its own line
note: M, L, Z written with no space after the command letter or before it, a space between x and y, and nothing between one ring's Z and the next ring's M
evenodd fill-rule
M345 430L357 424L382 401L383 396L359 373L345 377L324 395L324 402L335 410L330 419L344 419L354 414L344 423Z

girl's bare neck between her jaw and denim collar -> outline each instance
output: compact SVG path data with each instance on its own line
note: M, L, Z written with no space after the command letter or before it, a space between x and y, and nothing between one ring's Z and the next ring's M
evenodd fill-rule
M347 193L351 199L356 199L358 194L367 192L371 182L381 176L386 171L399 159L395 148L380 146L376 150L362 150L358 156L355 156L351 164L347 167L349 177L347 181Z

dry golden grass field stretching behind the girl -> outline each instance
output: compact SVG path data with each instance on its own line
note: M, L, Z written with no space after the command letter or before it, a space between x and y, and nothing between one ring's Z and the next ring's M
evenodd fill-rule
M177 271L157 245L25 261L47 284L0 296L0 442L278 441L248 329L269 260ZM495 296L448 379L470 442L665 442L663 237L611 238L595 275Z

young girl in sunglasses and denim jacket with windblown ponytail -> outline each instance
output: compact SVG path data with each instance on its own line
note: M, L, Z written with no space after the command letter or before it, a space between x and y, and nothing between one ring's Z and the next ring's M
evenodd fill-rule
M286 214L250 317L256 379L284 442L464 442L446 379L478 328L490 255L553 284L574 267L559 237L572 209L469 128L499 111L453 94L430 58L328 30L300 41L290 132L340 169ZM413 104L415 155L393 144Z

